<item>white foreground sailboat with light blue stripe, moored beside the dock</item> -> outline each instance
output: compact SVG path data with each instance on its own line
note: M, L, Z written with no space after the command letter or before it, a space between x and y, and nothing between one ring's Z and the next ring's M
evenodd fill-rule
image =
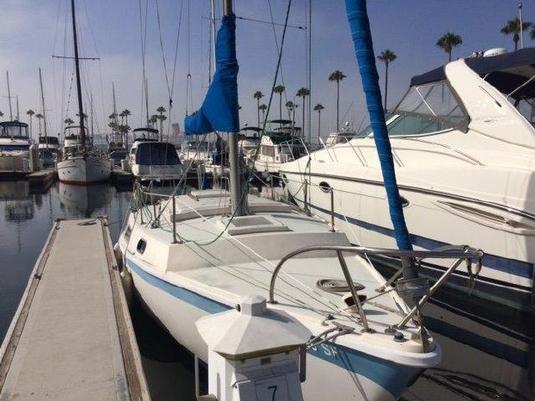
M469 247L434 252L353 247L324 221L248 195L238 159L238 63L230 0L223 10L216 74L185 129L188 134L230 133L230 193L159 195L162 201L149 205L143 198L153 194L139 189L116 245L125 273L142 304L205 362L199 319L232 310L244 297L263 295L268 309L287 313L312 333L301 362L304 399L397 399L440 360L440 347L420 318L421 307L440 284L426 288L426 280L409 274L411 263L403 278L386 281L367 255L450 259L442 283L460 263L478 263L482 253ZM263 363L276 369L271 359Z

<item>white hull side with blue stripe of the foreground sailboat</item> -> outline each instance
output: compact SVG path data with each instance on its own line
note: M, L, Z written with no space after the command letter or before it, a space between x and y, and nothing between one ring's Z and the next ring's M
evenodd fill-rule
M180 344L206 362L207 345L197 332L195 322L231 307L148 273L142 262L134 258L129 254L123 262L143 304ZM310 401L392 401L398 399L423 370L422 366L396 364L326 342L308 351L303 395Z

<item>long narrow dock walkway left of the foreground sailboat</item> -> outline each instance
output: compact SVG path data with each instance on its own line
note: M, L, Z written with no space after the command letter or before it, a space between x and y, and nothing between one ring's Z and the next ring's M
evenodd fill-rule
M0 347L8 400L150 400L105 218L52 229Z

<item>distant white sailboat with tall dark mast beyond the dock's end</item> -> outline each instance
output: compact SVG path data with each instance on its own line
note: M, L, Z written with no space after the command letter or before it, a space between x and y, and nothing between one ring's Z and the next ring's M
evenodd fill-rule
M69 146L64 147L62 160L57 163L58 177L61 182L87 185L106 182L111 175L110 160L93 148L85 127L85 115L82 101L82 84L80 77L80 59L78 55L78 39L76 32L76 12L74 0L71 0L72 30L74 42L74 65L76 72L76 88L78 92L78 127L69 127ZM77 133L72 132L77 130ZM67 141L67 135L65 135Z

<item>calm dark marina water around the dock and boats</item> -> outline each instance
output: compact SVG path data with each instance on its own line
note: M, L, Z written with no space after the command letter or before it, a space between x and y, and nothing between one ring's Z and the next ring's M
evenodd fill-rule
M54 220L107 215L115 240L129 201L129 192L112 186L56 183L31 194L26 182L0 182L0 341ZM443 361L405 400L535 400L535 315L447 292L425 314ZM194 400L191 355L141 308L134 307L133 320L153 399Z

